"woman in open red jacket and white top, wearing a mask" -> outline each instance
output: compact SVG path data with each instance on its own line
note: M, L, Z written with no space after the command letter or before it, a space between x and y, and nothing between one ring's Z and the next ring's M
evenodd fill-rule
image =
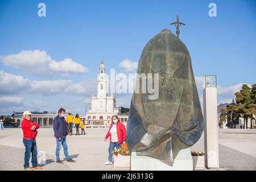
M126 129L125 125L119 121L119 118L117 115L113 115L112 123L109 127L109 131L106 134L105 141L110 137L110 143L109 143L109 160L105 162L105 165L113 164L113 150L120 147L120 144L126 142Z

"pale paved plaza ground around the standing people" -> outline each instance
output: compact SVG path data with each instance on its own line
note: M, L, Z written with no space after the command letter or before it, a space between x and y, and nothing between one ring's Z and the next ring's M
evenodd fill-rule
M220 170L256 170L256 130L219 129ZM86 135L67 137L68 151L76 163L57 164L56 140L53 130L38 130L38 151L46 152L44 170L116 170L105 166L109 140L104 142L107 129L86 129ZM64 159L63 148L60 151ZM24 145L22 129L0 131L0 170L23 170Z

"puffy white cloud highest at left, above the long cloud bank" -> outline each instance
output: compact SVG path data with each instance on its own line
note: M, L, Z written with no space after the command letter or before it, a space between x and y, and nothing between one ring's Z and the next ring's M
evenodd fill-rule
M23 72L35 76L53 76L58 73L67 76L67 73L86 73L88 69L72 59L66 58L63 61L52 60L46 51L38 49L32 51L21 51L18 54L0 56L5 65L14 67ZM61 73L61 74L60 74Z

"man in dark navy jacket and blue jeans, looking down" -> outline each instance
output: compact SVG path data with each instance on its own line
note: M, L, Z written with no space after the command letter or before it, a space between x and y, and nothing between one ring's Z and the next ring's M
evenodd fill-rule
M60 108L58 115L53 119L53 130L54 130L54 137L56 138L56 162L57 163L63 163L60 160L60 148L61 144L63 146L64 155L67 159L67 162L75 162L75 160L72 160L69 158L68 155L68 145L66 136L68 134L68 123L65 121L64 118L65 115L65 109Z

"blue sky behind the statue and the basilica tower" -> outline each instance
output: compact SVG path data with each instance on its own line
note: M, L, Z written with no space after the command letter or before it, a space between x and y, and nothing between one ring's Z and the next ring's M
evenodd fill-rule
M46 17L38 16L40 2L46 4ZM208 15L210 2L217 5L217 17ZM217 75L218 102L228 101L242 83L253 84L256 80L255 5L253 0L0 0L0 73L5 76L5 82L0 81L0 114L23 109L56 111L60 106L82 114L84 103L90 102L92 92L96 93L102 57L107 73L110 68L124 72L119 63L125 59L138 62L153 36L164 28L176 31L170 23L176 20L177 14L181 22L186 23L180 29L180 39L191 55L198 85L201 76ZM45 56L57 63L69 58L72 64L82 65L86 71L71 70L63 74L55 69L53 75L31 73L35 66L26 61L22 63L24 59L20 60L20 56L16 60L6 59L34 50L44 51ZM35 70L43 67L38 65ZM18 80L16 76L20 76ZM59 90L48 88L53 83L50 81L55 80L61 80L53 84L53 87L59 86ZM29 83L36 83L37 89L28 89ZM8 86L10 90L6 89ZM70 86L70 89L61 92L61 86ZM201 98L200 90L199 94ZM117 95L117 102L129 107L130 94Z

